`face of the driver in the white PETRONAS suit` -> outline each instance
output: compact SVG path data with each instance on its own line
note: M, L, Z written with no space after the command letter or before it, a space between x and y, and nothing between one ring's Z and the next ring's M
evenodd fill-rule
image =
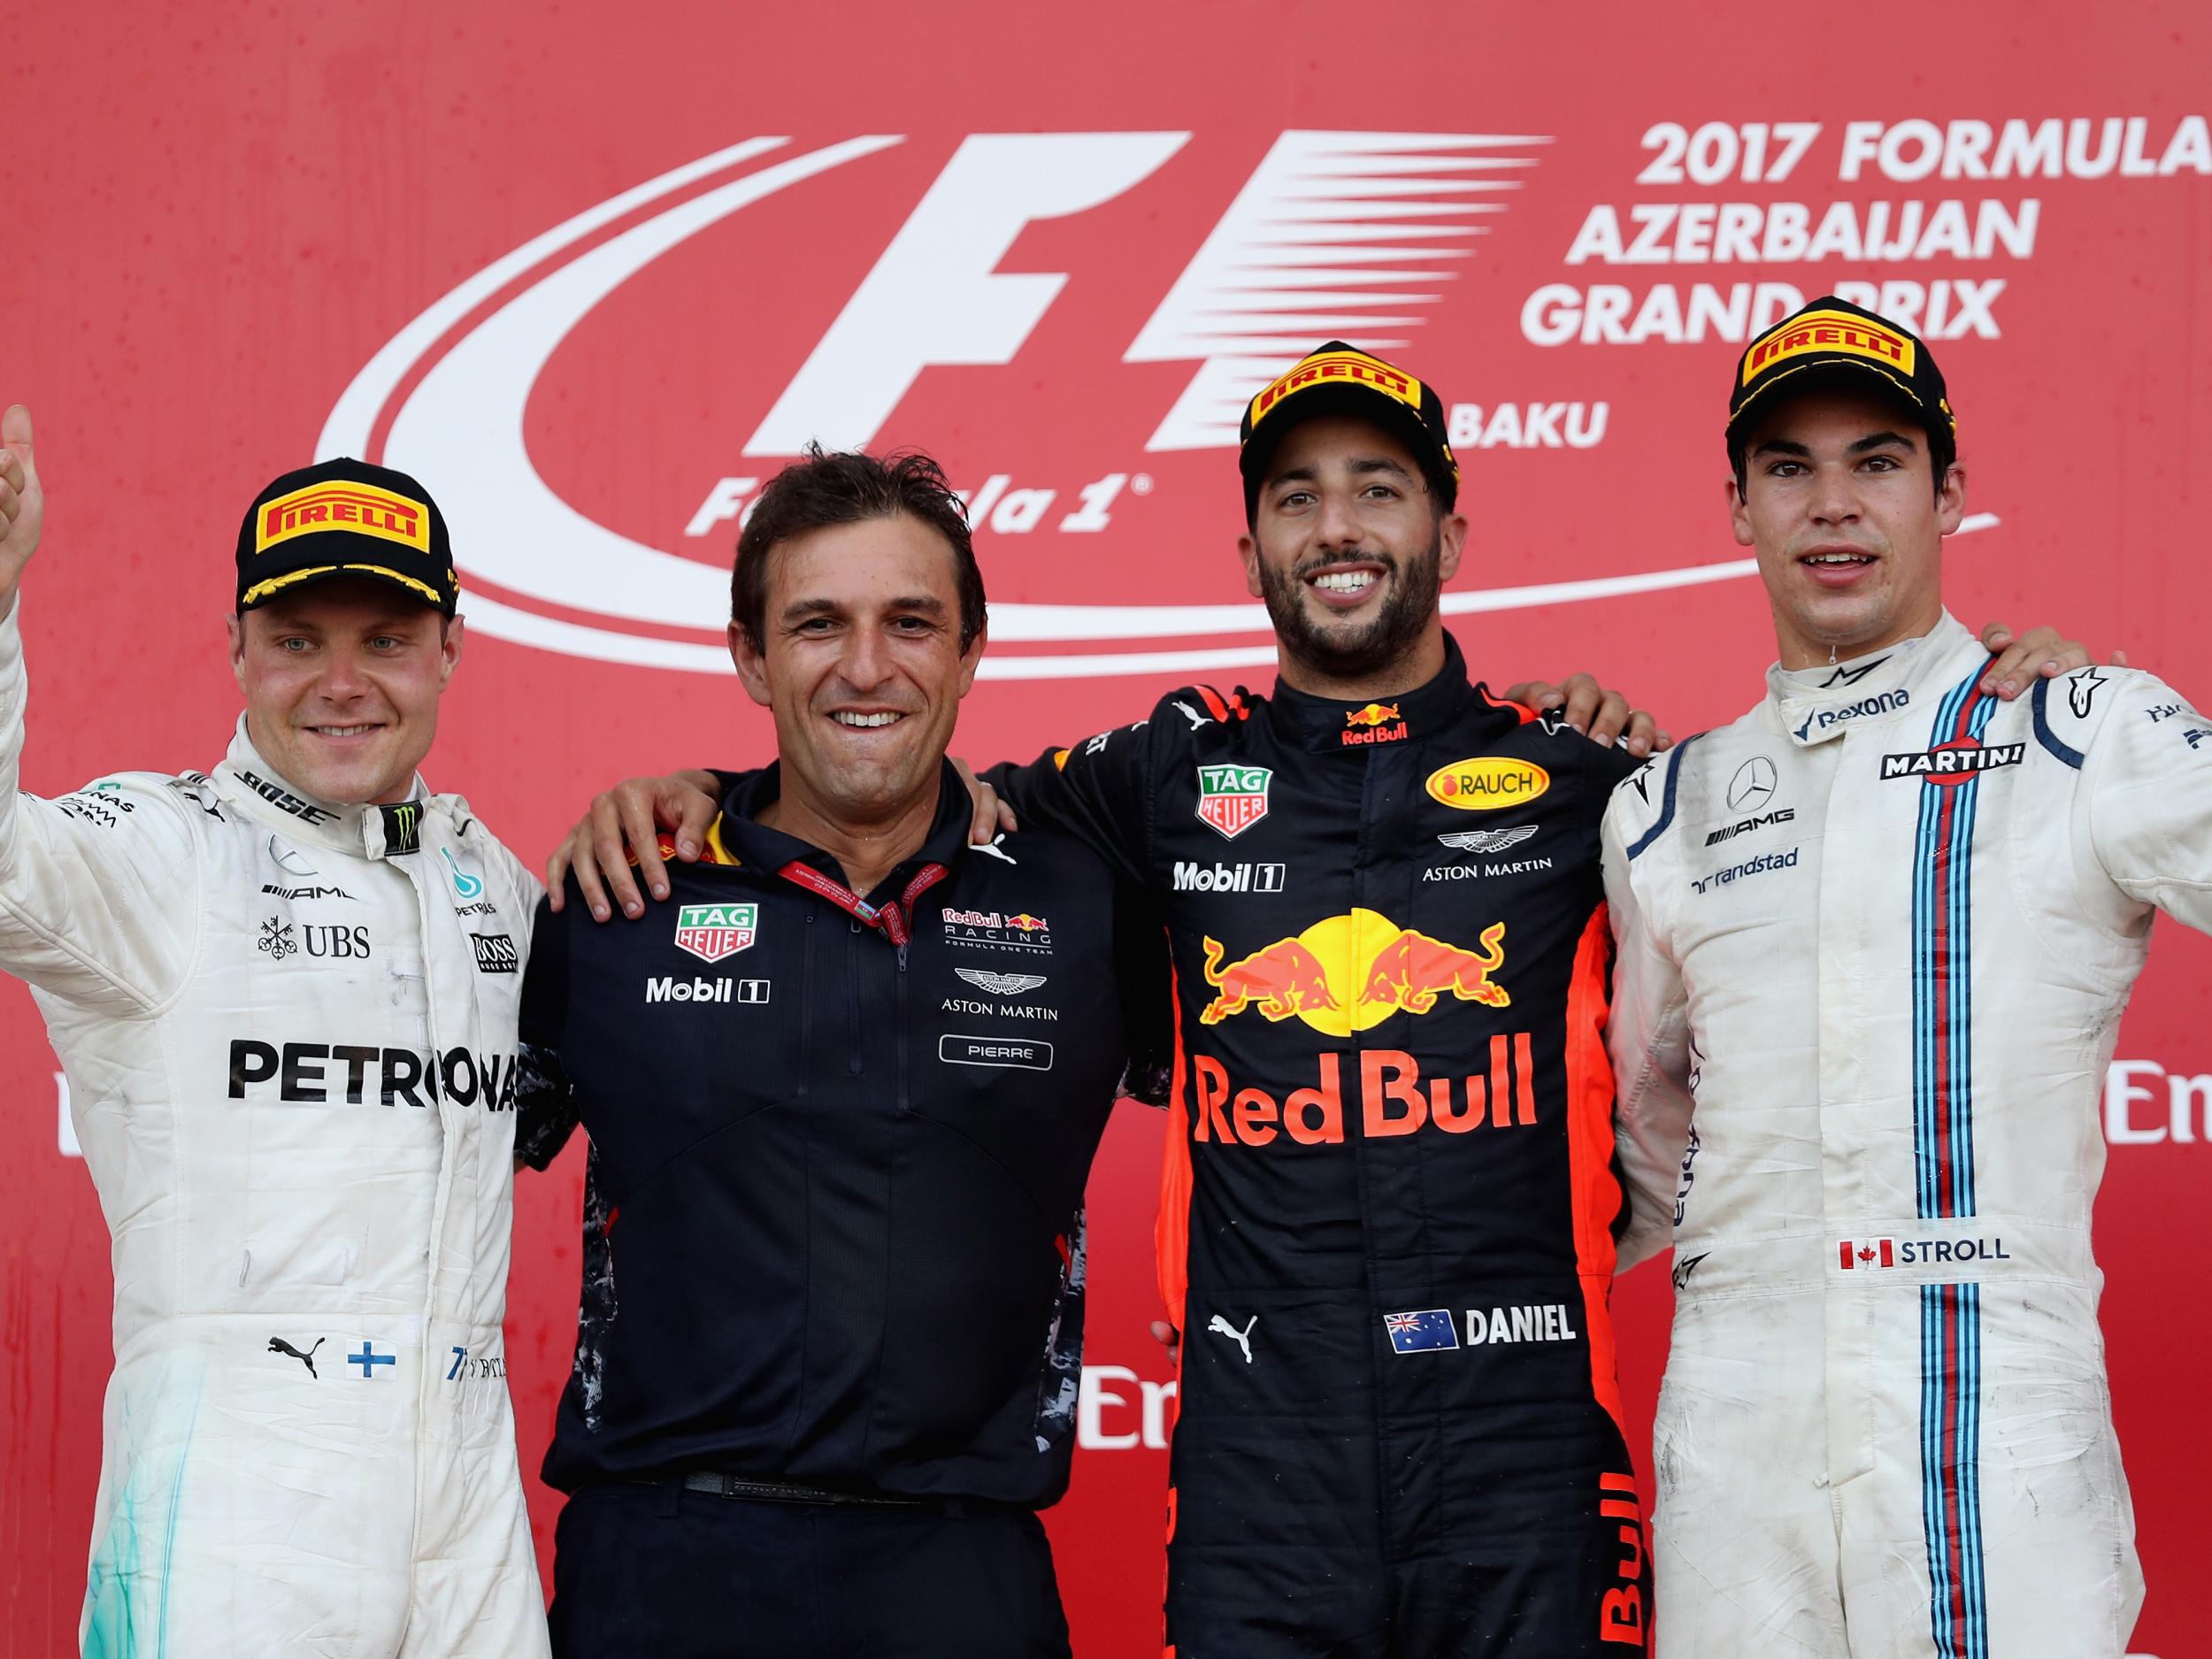
M405 801L460 664L460 619L389 582L327 577L230 619L246 730L321 801Z

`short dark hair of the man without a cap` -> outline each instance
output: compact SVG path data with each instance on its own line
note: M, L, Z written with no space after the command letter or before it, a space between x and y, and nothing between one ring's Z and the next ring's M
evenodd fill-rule
M807 445L805 456L768 480L745 529L737 535L737 566L730 571L730 619L754 650L768 637L768 555L783 542L830 524L860 524L872 518L916 518L953 551L953 584L960 591L960 650L982 633L982 568L967 504L945 482L945 469L918 449L869 456L858 449L825 451Z

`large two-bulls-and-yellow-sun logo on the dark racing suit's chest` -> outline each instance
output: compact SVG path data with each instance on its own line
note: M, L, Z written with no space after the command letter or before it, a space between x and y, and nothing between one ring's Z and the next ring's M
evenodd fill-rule
M1274 940L1223 962L1219 940L1206 940L1206 982L1214 1000L1201 1024L1256 1009L1263 1020L1305 1020L1314 1031L1349 1037L1394 1013L1429 1013L1438 1000L1506 1009L1513 998L1491 973L1504 967L1506 925L1482 929L1478 949L1398 927L1389 916L1356 909L1325 916L1296 938Z

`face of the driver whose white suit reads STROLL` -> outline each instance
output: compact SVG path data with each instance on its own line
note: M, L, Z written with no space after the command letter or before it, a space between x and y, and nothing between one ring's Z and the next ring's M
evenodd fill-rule
M1736 542L1756 549L1783 668L1913 639L1942 615L1942 538L1966 509L1953 465L1936 487L1927 434L1874 389L1778 403L1743 434L1728 482Z

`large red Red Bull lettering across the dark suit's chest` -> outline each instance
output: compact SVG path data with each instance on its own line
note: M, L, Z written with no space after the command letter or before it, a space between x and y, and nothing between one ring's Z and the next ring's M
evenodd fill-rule
M1489 1077L1422 1079L1420 1062L1402 1048L1360 1048L1352 1057L1358 1099L1347 1117L1343 1053L1321 1055L1314 1088L1294 1088L1281 1102L1265 1088L1239 1088L1212 1055L1192 1055L1190 1139L1267 1146L1285 1135L1298 1146L1340 1146L1352 1128L1378 1141L1425 1126L1447 1135L1535 1126L1535 1060L1526 1031L1491 1037Z

